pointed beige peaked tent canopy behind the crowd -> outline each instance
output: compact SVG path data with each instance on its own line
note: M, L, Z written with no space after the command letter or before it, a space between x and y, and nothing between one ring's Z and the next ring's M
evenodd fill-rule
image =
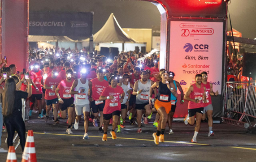
M89 38L83 41L89 42ZM138 43L131 38L118 24L113 13L110 14L104 26L93 36L94 43Z

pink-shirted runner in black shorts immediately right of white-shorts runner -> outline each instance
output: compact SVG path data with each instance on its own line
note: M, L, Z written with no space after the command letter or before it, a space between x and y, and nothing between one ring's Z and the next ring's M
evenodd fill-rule
M103 108L105 106L105 101L100 101L100 95L104 88L108 86L108 81L104 80L104 72L102 69L97 70L97 77L91 80L92 83L92 95L89 98L91 103L91 110L92 115L94 116L93 119L93 126L98 127L97 117L100 111L100 128L99 131L102 132L102 124L104 122L103 118Z

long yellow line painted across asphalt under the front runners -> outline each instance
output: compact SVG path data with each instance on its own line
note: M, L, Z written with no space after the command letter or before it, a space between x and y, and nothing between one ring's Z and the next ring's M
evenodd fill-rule
M73 135L73 134L53 134L53 133L39 133L39 132L33 132L34 134L47 134L47 135L58 135L58 136L83 136L83 135ZM102 136L89 136L89 137L95 137L95 138L102 138ZM112 137L108 137L112 138ZM125 138L125 137L117 137L117 139L124 139L124 140L139 140L139 141L154 141L154 140L147 140L147 139L140 139L140 138ZM168 143L179 143L179 144L189 144L189 145L209 145L209 144L200 144L200 143L191 143L191 142L183 142L183 141L165 141Z

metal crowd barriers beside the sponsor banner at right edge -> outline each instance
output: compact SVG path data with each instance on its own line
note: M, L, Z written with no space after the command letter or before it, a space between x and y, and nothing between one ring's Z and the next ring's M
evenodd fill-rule
M256 86L226 82L224 95L224 122L244 128L252 126L249 117L256 118Z

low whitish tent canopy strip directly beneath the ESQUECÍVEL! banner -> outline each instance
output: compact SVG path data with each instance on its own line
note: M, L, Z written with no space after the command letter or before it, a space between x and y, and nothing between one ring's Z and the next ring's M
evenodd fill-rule
M29 35L29 42L78 42L73 39L70 39L67 36L44 36L44 35Z

